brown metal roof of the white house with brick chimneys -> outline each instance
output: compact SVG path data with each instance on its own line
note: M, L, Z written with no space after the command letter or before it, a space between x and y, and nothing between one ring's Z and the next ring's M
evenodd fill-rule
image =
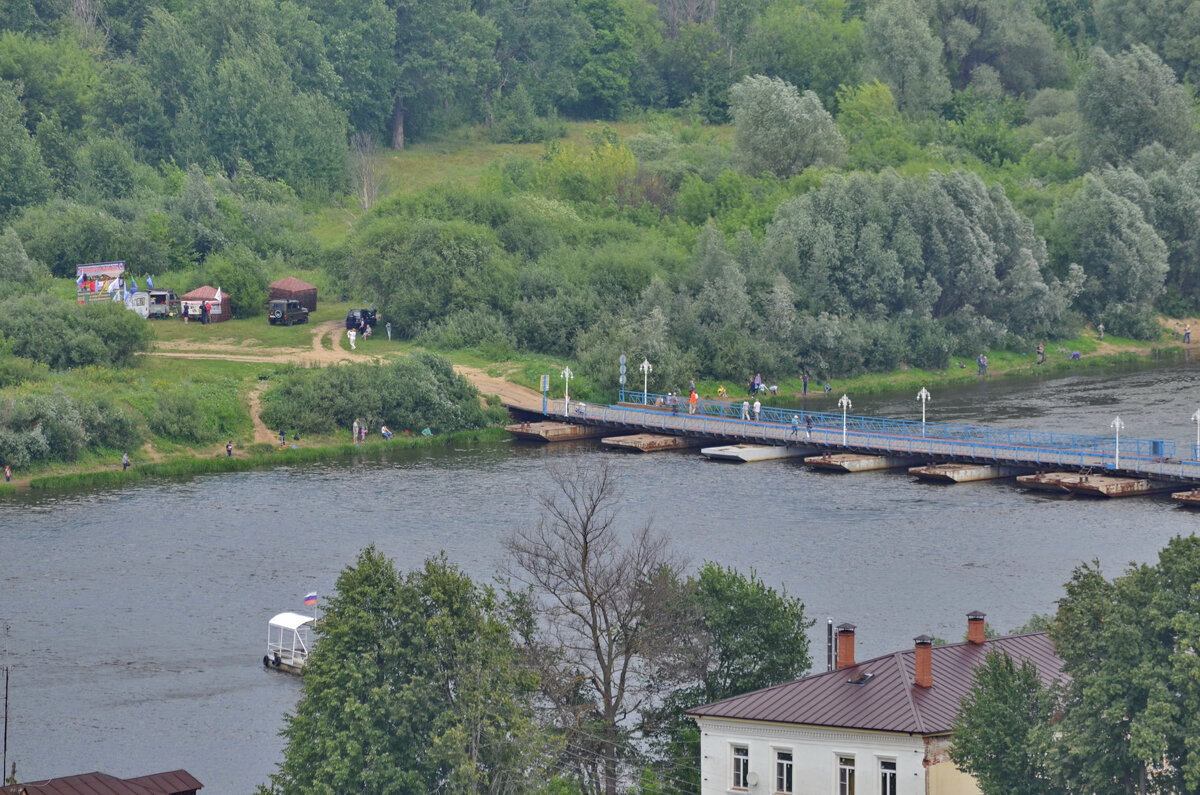
M959 704L974 683L974 669L990 651L1037 665L1043 683L1055 681L1062 659L1044 632L994 638L985 644L934 646L934 686L917 687L913 650L868 659L836 671L806 676L754 693L689 710L688 715L738 721L766 721L869 731L947 734ZM860 685L852 680L871 676Z

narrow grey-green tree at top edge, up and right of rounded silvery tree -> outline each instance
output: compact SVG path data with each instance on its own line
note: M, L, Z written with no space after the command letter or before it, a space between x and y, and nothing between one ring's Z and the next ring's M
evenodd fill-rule
M936 113L950 98L942 46L913 0L886 0L866 12L868 64L892 89L896 107L914 115Z

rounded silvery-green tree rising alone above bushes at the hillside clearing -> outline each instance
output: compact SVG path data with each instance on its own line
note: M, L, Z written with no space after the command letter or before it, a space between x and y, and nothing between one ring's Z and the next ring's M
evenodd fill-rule
M745 171L791 177L845 157L846 142L812 91L758 74L743 78L731 97L733 147Z

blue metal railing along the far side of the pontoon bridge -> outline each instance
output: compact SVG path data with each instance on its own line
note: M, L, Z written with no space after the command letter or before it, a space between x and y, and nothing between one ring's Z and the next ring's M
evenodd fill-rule
M688 402L683 395L670 396L655 393L644 395L643 393L620 390L619 398L623 404L642 404L647 411L668 412L679 414L692 414L701 417L725 418L743 420L743 406L752 406L752 401L713 401L697 400L695 406ZM673 400L678 400L673 404ZM800 426L806 425L808 418L812 418L816 428L842 428L841 412L815 412L793 408L778 408L774 406L762 406L758 416L754 416L752 407L748 411L745 419L757 423L775 423L779 425L792 424L792 418L798 419ZM988 428L984 425L964 425L955 423L922 423L911 419L892 419L887 417L866 417L862 414L846 414L845 428L847 432L882 434L898 437L918 437L941 440L947 442L971 442L992 448L1036 448L1046 450L1072 450L1091 453L1096 455L1116 456L1116 440L1112 436L1088 436L1081 434L1058 434L1055 431L1034 431L1012 428ZM1122 438L1121 458L1132 459L1174 459L1175 442L1168 440Z

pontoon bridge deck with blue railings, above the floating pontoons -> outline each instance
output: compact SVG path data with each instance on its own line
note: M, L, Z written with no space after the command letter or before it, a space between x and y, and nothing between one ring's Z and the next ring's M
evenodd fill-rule
M641 398L641 393L637 393ZM719 408L716 408L719 407ZM1078 436L982 426L922 424L832 412L763 410L760 419L742 419L740 404L702 404L695 414L688 405L646 407L605 406L547 400L547 418L600 425L612 431L647 431L757 444L796 444L829 452L917 458L930 462L964 461L1025 467L1103 471L1111 476L1154 478L1200 485L1200 461L1171 458L1175 442ZM769 413L768 413L769 411ZM730 414L736 412L737 416ZM798 424L792 423L797 416ZM805 420L812 419L811 438ZM924 431L924 435L922 432Z

